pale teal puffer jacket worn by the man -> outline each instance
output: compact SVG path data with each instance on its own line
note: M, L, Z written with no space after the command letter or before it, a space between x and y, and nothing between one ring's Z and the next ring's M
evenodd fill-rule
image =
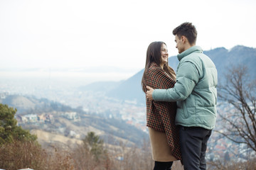
M178 60L174 88L154 90L154 101L177 101L176 125L212 130L217 113L215 64L198 46L179 54Z

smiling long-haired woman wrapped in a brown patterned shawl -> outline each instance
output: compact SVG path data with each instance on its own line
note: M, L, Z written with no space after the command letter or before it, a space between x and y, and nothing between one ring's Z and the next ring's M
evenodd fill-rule
M151 42L146 51L146 66L142 77L142 89L174 87L176 74L168 65L168 50L164 42ZM171 169L181 160L178 130L174 124L176 102L155 102L146 99L146 126L149 128L154 170Z

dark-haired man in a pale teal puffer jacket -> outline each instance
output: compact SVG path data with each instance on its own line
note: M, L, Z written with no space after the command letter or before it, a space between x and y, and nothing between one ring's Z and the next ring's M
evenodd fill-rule
M216 122L217 70L196 46L197 31L192 23L173 30L178 48L176 84L172 89L152 89L151 101L177 101L175 123L179 127L184 169L206 169L206 147Z

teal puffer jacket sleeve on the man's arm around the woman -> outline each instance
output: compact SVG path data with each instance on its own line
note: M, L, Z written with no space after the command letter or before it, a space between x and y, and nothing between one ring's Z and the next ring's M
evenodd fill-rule
M183 62L177 72L177 79L174 88L155 89L153 92L154 101L183 101L193 91L199 80L199 72L192 62Z

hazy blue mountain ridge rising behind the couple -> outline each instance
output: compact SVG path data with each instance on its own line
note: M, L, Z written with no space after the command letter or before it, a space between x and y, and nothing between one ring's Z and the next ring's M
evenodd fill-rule
M204 51L215 63L218 70L218 81L225 78L225 73L230 67L238 64L246 65L250 76L256 79L256 49L238 45L231 50L224 47L218 47L213 50ZM177 57L169 57L169 65L174 70L178 66ZM144 69L133 77L123 81L119 86L107 92L107 96L118 98L119 100L137 101L139 105L145 105L145 95L142 92L142 75Z

